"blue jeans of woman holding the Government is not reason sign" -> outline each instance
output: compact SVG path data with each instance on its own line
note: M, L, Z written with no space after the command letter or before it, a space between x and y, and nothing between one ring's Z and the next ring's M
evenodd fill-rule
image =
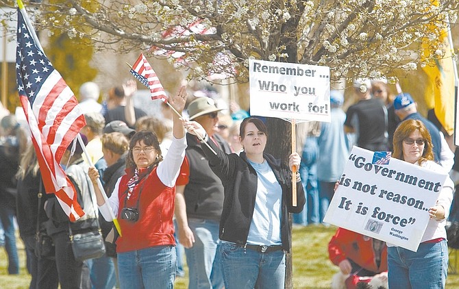
M421 243L417 252L388 247L387 263L390 289L445 288L448 271L447 242Z

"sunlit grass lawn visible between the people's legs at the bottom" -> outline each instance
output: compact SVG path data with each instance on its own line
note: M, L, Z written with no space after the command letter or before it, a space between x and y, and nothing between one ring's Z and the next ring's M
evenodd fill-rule
M332 275L338 271L328 260L327 244L335 227L303 227L293 229L293 286L304 289L330 288ZM20 275L8 275L8 259L5 249L0 249L0 289L29 288L30 276L25 269L25 251L23 243L18 240L19 260L21 262ZM459 269L459 253L454 251L450 255L450 264ZM188 277L177 278L175 288L187 288ZM447 288L459 288L458 273L449 273Z

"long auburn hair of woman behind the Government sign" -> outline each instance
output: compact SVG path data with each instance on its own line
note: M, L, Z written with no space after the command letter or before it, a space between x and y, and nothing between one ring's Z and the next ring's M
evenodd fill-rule
M403 144L401 142L408 138L414 131L419 131L419 134L421 134L425 140L424 151L421 155L421 158L419 158L418 163L421 164L425 160L434 160L434 145L432 145L432 138L430 137L430 133L423 122L417 119L407 119L406 121L401 122L399 127L397 127L395 130L393 139L394 151L392 157L399 160L404 160Z

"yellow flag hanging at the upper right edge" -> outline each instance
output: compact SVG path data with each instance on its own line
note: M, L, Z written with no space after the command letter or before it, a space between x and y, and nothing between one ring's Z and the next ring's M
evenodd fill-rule
M429 30L434 33L436 26L430 23ZM423 67L423 71L427 75L427 83L425 87L424 99L427 108L434 108L434 112L438 121L443 128L451 136L454 132L454 108L455 104L455 87L454 87L454 60L452 58L453 47L451 47L448 39L449 27L441 30L436 43L436 47L443 47L445 54L442 56L434 55L433 60ZM430 58L432 51L432 42L427 39L423 42L423 58Z

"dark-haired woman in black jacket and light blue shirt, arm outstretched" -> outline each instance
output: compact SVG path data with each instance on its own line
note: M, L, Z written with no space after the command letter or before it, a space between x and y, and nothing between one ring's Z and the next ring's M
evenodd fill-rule
M206 135L196 122L186 123L191 134ZM194 131L193 131L194 130ZM290 168L299 167L292 153L288 167L264 153L268 136L258 118L240 124L240 155L223 153L207 136L201 145L210 168L221 179L225 200L220 220L221 264L226 289L284 288L285 254L290 251L288 213L299 213L306 202L301 179L296 179L293 206Z

